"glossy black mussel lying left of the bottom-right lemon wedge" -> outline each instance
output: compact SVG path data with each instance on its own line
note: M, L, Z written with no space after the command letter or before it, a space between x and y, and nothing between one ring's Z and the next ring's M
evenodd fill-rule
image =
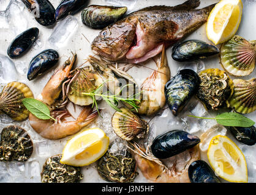
M200 139L183 130L171 130L157 136L151 145L152 154L157 158L169 158L200 143Z

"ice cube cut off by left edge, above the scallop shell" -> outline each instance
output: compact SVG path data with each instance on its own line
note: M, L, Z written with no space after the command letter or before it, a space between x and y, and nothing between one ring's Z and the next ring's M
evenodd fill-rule
M9 83L18 80L15 64L6 55L0 54L0 83Z

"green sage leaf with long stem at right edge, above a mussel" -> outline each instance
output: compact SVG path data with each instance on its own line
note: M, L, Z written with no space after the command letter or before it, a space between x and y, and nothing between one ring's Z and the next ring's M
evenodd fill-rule
M222 126L230 126L230 127L251 127L254 126L255 122L251 119L240 115L235 112L225 112L217 115L216 118L205 118L200 116L188 115L194 118L202 118L202 119L216 119L217 123Z

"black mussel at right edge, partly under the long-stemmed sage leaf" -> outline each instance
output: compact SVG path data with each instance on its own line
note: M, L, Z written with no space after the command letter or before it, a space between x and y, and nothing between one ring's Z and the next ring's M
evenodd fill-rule
M256 143L256 127L226 127L236 140L252 146Z

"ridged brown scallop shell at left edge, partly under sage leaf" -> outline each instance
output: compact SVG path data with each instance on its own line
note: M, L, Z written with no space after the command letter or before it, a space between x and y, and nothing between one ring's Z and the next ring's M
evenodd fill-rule
M29 111L22 103L24 98L34 98L27 85L21 82L8 83L0 96L0 112L10 116L15 121L23 121L29 115Z

